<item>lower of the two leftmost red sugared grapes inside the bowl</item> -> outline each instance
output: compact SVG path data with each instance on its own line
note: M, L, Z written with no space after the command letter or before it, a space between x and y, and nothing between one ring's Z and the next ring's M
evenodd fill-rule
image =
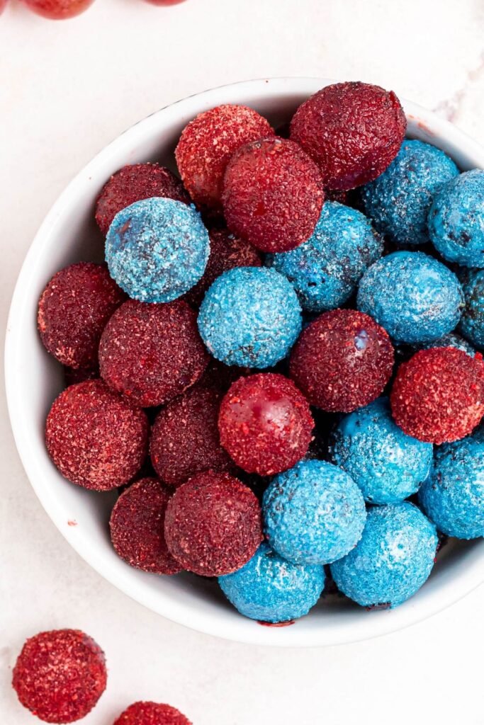
M71 385L54 400L46 447L62 476L78 486L108 491L131 479L147 452L143 410L102 380Z

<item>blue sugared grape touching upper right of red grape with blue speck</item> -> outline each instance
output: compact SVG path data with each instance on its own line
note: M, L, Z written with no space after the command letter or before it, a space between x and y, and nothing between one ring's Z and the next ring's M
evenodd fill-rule
M393 252L360 280L358 310L409 344L439 339L456 327L464 294L454 272L423 252Z

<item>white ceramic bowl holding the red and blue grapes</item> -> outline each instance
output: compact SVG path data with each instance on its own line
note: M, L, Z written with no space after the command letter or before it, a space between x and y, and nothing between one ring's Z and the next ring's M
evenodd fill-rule
M215 88L164 108L119 136L67 186L41 225L17 281L7 331L7 397L17 448L33 489L67 541L105 579L150 609L193 629L257 645L334 645L422 620L482 581L484 541L448 544L429 581L395 610L366 612L351 602L329 598L294 625L279 629L240 616L215 581L136 571L115 555L110 544L107 522L115 494L88 492L68 483L46 454L44 421L62 389L63 376L61 366L47 355L39 339L37 302L54 272L78 260L102 258L94 202L118 168L148 160L173 168L173 149L181 129L205 109L222 103L247 104L277 126L327 83L319 78L275 78ZM405 102L404 107L409 136L439 146L463 170L484 167L484 149L475 141L414 104Z

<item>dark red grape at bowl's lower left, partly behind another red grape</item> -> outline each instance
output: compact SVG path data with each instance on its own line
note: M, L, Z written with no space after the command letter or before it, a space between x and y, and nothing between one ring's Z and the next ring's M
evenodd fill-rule
M120 495L112 509L112 545L122 559L137 569L155 574L181 571L163 534L170 495L168 487L157 479L141 479Z

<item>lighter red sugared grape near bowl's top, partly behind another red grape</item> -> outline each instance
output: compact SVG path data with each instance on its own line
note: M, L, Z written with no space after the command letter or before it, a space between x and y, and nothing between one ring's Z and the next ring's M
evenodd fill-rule
M239 146L274 131L247 106L217 106L200 113L181 133L175 157L194 202L221 210L223 174Z

